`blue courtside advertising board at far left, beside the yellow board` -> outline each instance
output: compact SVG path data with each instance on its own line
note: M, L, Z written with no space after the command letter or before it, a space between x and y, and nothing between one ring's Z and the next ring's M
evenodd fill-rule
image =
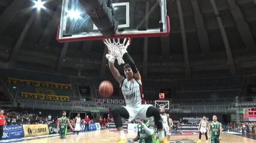
M14 138L23 138L24 131L22 126L18 125L10 125L6 126L7 129L4 128L4 134L2 135L2 139L14 139Z

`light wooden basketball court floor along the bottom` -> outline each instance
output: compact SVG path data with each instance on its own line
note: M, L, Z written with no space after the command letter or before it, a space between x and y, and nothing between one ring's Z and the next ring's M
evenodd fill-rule
M126 132L126 136L129 139L135 137L136 132L134 130L129 130ZM171 135L170 143L195 143L198 141L198 134L196 132L174 132L174 135ZM234 135L233 135L234 134ZM223 133L221 143L256 143L255 135L243 137L239 133L235 132ZM237 134L237 135L236 135ZM118 133L116 130L99 130L94 132L85 132L80 133L79 139L75 139L73 135L67 135L66 143L76 143L76 142L90 142L90 143L115 143L118 139ZM206 142L204 136L201 141ZM62 142L59 139L58 135L46 135L46 136L37 136L31 138L22 138L22 139L10 139L4 140L2 143L7 142L21 142L21 143L58 143Z

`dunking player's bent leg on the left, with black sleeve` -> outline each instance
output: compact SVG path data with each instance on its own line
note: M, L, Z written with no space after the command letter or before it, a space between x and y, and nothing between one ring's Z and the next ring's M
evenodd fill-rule
M125 119L129 119L129 112L125 107L114 108L112 111L114 122L116 125L116 129L118 129L119 136L122 139L126 140L125 133L123 130L122 117Z

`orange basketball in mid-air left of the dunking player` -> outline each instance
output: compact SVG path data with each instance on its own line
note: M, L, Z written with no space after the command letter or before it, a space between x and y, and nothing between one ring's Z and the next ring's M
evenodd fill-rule
M104 80L99 86L99 93L104 98L109 98L113 94L113 85L111 82Z

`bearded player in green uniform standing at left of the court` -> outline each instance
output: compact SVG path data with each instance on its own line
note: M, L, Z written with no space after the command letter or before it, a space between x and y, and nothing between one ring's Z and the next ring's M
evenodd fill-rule
M57 126L57 130L59 130L60 138L64 139L64 141L62 142L65 142L65 138L67 137L68 126L70 126L72 130L74 130L73 126L70 123L70 119L68 119L68 117L66 116L67 116L67 112L62 111L62 117L59 118L58 126Z

